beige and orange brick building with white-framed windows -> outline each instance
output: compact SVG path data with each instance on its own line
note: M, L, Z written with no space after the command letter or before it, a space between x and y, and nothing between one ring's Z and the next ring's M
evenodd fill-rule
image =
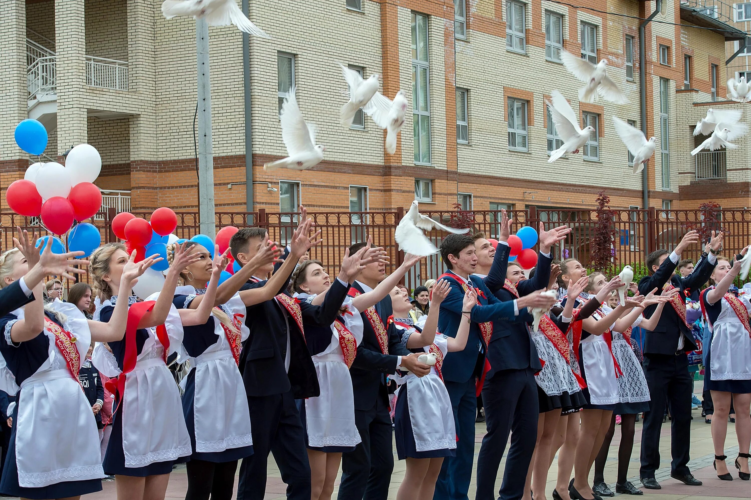
M646 169L648 203L744 207L751 137L727 153L694 158L689 151L692 125L708 106L740 107L723 101L725 44L745 33L691 2L663 1L645 28L647 137L658 144ZM581 208L594 206L602 189L614 206L644 207L641 174L632 174L611 116L641 128L639 23L657 2L569 3L250 0L250 19L272 39L250 38L249 96L243 35L234 26L210 28L216 209L249 209L246 152L252 209L285 211L300 202L312 210L394 209L415 196L435 209L457 196L467 209ZM108 203L129 196L132 209L195 209L195 22L165 20L158 0L0 0L0 8L0 187L29 164L12 135L32 117L50 131L50 158L78 143L99 149L97 183ZM582 84L560 64L561 49L607 58L630 103L580 104ZM409 96L415 111L394 155L369 117L339 125L346 90L339 63L366 77L382 74L388 97L399 89ZM325 159L308 171L265 172L265 162L285 155L279 101L293 83L303 116L318 125ZM559 139L544 98L552 89L597 134L582 154L551 165L548 151ZM2 203L7 210L4 194Z

